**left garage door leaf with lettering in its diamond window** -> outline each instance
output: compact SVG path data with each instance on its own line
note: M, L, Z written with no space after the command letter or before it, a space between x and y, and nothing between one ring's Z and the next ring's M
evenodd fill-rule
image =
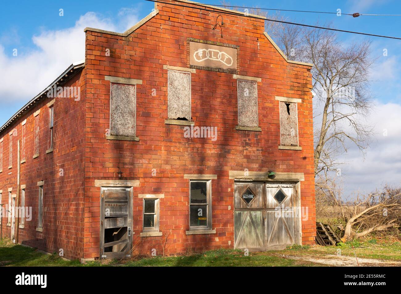
M265 189L263 183L234 184L234 248L263 250Z

